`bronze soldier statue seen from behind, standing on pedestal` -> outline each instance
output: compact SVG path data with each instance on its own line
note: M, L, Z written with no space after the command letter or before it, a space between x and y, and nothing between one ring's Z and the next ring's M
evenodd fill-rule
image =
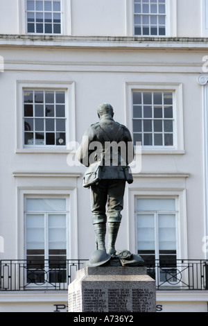
M115 255L125 182L133 181L128 164L133 160L134 146L128 128L114 121L112 105L99 105L98 117L99 121L85 132L77 155L78 160L87 166L83 186L91 188L96 249L106 251L105 234L108 223L107 254Z

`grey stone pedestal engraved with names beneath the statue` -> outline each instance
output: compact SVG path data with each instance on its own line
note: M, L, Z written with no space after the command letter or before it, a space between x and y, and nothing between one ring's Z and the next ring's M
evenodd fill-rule
M146 267L85 267L69 284L69 312L155 312L155 280Z

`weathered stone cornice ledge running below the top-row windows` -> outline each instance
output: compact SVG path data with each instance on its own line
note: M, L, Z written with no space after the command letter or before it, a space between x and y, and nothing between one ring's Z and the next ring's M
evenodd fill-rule
M0 35L0 46L101 47L125 49L206 49L205 37Z

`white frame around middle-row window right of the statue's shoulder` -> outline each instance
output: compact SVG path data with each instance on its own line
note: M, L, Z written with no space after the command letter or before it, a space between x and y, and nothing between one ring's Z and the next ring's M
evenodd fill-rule
M125 122L133 135L133 92L173 92L173 117L175 121L174 146L142 146L142 154L184 154L183 103L181 83L126 83L125 84ZM131 114L128 108L131 108ZM170 148L171 147L171 148Z

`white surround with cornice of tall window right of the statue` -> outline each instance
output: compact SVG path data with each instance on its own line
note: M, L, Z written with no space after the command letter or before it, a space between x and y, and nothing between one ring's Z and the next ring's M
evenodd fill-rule
M144 175L138 175L138 177L140 187L130 186L127 194L129 207L128 216L132 216L128 219L128 247L130 251L137 252L137 219L135 218L136 198L175 198L175 209L178 212L176 229L177 259L187 259L187 194L186 189L184 189L185 178L187 178L187 176L175 175L177 190L173 189L173 177L169 178L168 175L161 176L161 178L156 175L155 178L152 175L145 175L145 177ZM153 180L155 187L152 187ZM132 234L134 237L132 237Z

